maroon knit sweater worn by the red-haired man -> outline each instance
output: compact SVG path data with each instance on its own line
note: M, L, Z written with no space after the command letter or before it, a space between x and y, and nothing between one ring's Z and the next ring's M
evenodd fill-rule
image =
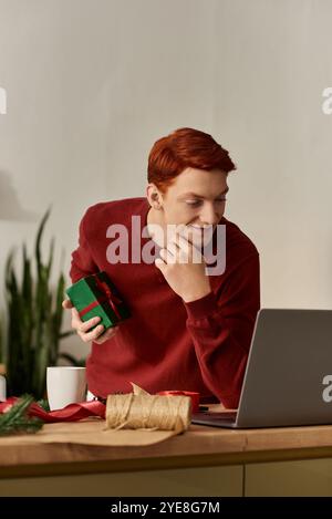
M198 391L201 403L238 406L251 335L260 308L259 253L252 241L225 217L226 270L209 276L211 292L185 303L151 264L112 264L106 250L112 224L125 225L131 241L132 216L146 226L146 198L127 198L90 207L80 224L79 247L70 277L105 270L128 304L132 316L103 344L92 342L86 361L89 390L98 396L128 393L131 382L149 393ZM142 238L142 247L148 238Z

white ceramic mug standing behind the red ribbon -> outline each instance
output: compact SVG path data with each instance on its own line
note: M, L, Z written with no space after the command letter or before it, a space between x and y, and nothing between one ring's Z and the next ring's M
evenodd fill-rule
M46 371L50 409L62 409L69 404L86 399L85 367L52 366Z

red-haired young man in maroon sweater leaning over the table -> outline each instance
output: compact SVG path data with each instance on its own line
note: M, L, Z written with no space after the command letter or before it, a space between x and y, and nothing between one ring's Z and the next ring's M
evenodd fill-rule
M151 150L146 198L86 210L72 253L72 282L105 270L132 312L100 336L103 326L89 331L98 318L83 323L71 302L63 302L72 308L72 326L81 339L92 341L86 374L94 395L128 393L134 382L149 393L197 391L201 403L238 406L260 283L255 245L224 217L227 177L234 169L228 152L210 135L179 128ZM139 217L138 231L143 236L147 230L145 237L133 228L132 217ZM128 232L128 253L116 262L114 229L120 225ZM218 246L219 228L226 229L226 248ZM154 246L153 261L142 261L144 253L137 260L139 239L141 252ZM222 256L226 260L217 273L207 270L212 264L204 255L207 243L214 247L215 263L222 263Z

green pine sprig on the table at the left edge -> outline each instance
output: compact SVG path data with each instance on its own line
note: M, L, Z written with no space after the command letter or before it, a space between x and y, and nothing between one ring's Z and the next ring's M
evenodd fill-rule
M9 411L0 415L0 436L13 433L37 433L43 422L28 415L28 409L33 402L33 396L23 395L10 407Z

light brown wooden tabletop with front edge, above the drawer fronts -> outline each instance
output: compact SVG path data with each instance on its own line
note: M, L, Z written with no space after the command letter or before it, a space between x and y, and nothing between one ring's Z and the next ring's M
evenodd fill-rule
M220 405L210 409L220 411ZM68 432L82 423L48 424ZM100 424L91 423L90 427ZM0 477L116 473L239 465L332 457L332 425L222 429L191 424L181 435L144 447L110 447L69 442L39 443L38 435L0 438Z

